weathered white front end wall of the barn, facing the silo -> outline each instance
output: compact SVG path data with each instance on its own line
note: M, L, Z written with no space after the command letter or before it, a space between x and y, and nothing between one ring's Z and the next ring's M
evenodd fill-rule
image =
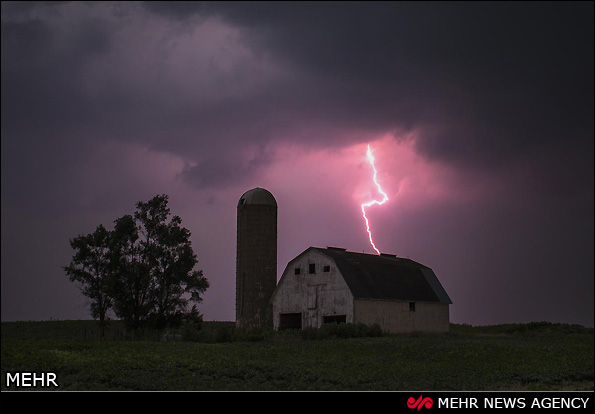
M310 264L315 266L314 274L309 273ZM325 266L329 266L328 272ZM347 323L353 322L353 295L334 261L316 251L307 251L289 263L272 304L275 329L279 329L281 313L302 313L302 328L318 328L324 316L330 315L345 315Z

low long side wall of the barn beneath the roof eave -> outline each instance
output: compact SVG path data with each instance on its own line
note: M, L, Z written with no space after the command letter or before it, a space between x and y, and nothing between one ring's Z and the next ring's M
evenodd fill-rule
M354 322L378 324L385 332L448 332L449 309L445 303L355 300Z

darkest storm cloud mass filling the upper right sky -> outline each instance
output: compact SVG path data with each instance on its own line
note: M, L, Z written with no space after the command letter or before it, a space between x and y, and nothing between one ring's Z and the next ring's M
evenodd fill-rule
M592 148L592 3L146 7L237 25L253 50L298 68L292 98L339 108L327 122L423 127L419 149L430 157L480 166L544 142ZM287 101L271 100L272 111Z

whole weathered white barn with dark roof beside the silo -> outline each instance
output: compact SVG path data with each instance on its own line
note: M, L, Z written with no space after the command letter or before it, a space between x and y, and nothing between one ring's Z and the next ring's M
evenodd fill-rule
M390 254L310 247L271 297L275 329L378 324L384 332L447 332L452 303L427 266Z

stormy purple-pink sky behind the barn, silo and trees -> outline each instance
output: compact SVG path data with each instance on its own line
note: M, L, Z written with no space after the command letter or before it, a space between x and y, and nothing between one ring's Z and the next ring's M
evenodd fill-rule
M88 319L69 239L168 194L235 318L239 197L431 267L451 321L593 326L593 3L2 2L2 320Z

